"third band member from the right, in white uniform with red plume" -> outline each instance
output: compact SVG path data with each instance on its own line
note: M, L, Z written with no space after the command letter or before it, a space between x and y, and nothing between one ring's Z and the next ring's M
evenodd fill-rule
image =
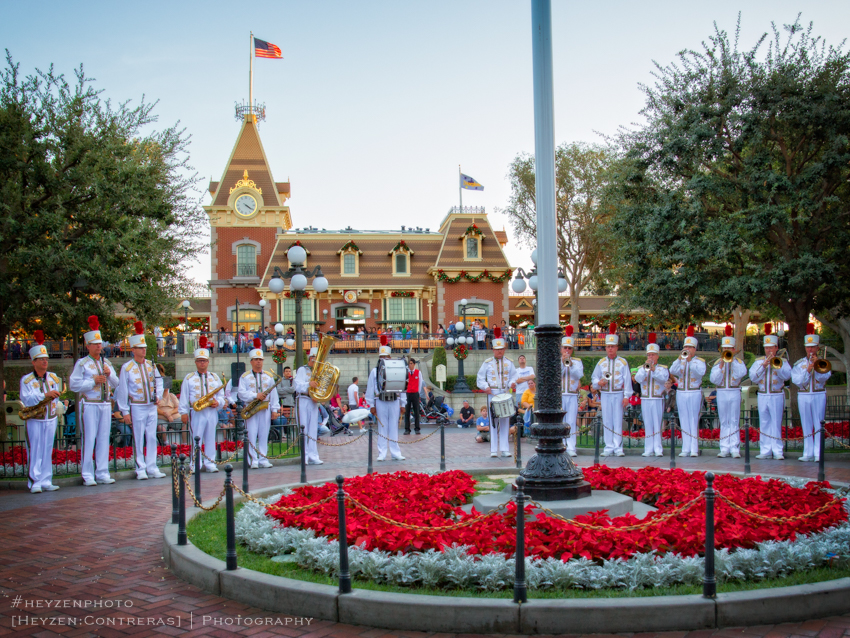
M735 337L732 326L725 328L726 336L720 340L720 351L734 355ZM747 376L747 366L739 357L726 363L721 356L711 366L709 380L717 386L717 415L720 417L720 458L741 458L741 435L738 419L741 416L741 381Z

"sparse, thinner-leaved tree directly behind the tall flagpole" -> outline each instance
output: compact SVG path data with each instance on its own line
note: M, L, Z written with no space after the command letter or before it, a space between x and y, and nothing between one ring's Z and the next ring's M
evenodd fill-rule
M570 292L570 323L578 328L578 298L600 274L606 250L601 232L610 209L601 202L610 153L598 146L561 144L555 152L555 214L558 262ZM537 245L534 157L521 153L511 163L511 198L504 209L520 241Z

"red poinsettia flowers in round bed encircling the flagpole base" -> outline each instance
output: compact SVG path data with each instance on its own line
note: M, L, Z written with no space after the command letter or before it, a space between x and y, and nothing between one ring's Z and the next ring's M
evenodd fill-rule
M678 505L699 496L705 489L704 472L662 470L658 468L609 468L594 466L584 470L594 489L615 490L636 500L658 507L644 521L658 518ZM771 517L790 517L810 512L831 503L825 511L796 522L770 523L737 512L726 503L715 503L716 547L753 547L759 541L793 539L797 534L816 532L837 525L847 515L841 501L821 491L828 483L809 483L797 489L776 480L718 476L715 487L720 494L747 510ZM315 503L336 492L336 485L306 486L277 505L295 507ZM454 530L438 528L480 516L467 515L460 509L474 491L474 480L460 471L436 476L396 472L347 479L346 492L367 507L394 521L422 527L408 530L370 516L349 505L347 537L349 543L366 549L390 552L442 549L456 543L468 545L472 553L513 553L516 506L479 523ZM528 511L531 507L529 506ZM269 510L268 515L285 526L309 528L319 535L335 538L339 533L336 499L301 514ZM526 552L529 556L558 557L569 560L583 556L593 560L628 557L637 552L679 552L690 556L705 547L705 505L700 501L691 508L656 525L638 530L622 529L639 524L631 514L611 519L605 511L576 517L576 522L604 526L606 530L586 529L544 514L526 523Z

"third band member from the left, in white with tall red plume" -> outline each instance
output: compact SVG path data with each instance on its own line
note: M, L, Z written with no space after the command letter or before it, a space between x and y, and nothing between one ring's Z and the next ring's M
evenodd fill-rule
M141 321L133 324L136 334L130 335L133 359L121 366L115 399L124 415L124 423L133 425L133 444L136 448L136 478L163 478L156 466L156 406L162 398L162 377L153 363L145 359L145 327Z

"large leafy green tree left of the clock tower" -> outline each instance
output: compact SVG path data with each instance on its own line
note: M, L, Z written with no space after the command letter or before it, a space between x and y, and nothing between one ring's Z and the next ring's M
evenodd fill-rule
M6 59L0 342L36 325L48 339L76 336L89 314L115 338L117 303L155 320L180 296L186 262L202 248L206 218L192 192L188 138L176 127L153 130L153 104L103 101L82 67L71 86L52 68L21 78L8 51Z

